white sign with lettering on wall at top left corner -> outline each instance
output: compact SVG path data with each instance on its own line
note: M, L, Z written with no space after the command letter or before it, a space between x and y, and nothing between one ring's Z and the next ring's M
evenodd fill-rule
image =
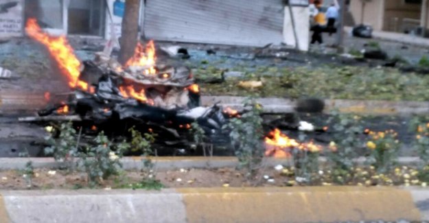
M23 1L0 0L0 37L23 35Z

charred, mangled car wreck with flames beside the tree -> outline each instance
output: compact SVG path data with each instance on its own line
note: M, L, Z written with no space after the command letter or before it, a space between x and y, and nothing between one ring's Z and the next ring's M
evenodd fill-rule
M167 153L183 152L192 145L193 123L206 134L207 143L227 143L222 125L229 114L221 106L200 106L200 93L191 71L181 64L156 61L153 41L121 66L100 52L93 60L80 62L64 36L53 37L30 19L27 34L47 47L73 91L61 102L51 102L38 112L40 120L71 117L87 135L104 131L110 137L126 137L133 126L141 132L157 134L156 144ZM49 93L45 96L50 98ZM53 117L53 119L49 119Z

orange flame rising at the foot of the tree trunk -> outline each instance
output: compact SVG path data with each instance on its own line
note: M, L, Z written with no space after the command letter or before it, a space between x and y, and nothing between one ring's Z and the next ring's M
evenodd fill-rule
M135 47L134 56L130 58L126 63L125 67L149 67L144 71L145 75L153 75L156 73L154 68L155 65L155 46L154 41L150 40L148 44L146 44L146 49L141 45L141 43L137 43Z

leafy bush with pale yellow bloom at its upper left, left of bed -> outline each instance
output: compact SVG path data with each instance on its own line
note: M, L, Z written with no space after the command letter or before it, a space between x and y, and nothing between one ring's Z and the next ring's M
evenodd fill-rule
M65 163L72 170L74 158L78 155L82 128L80 128L79 134L76 134L73 125L71 122L68 122L61 124L59 130L55 130L52 126L47 126L45 130L49 134L45 137L45 141L49 145L49 147L45 148L45 154L52 154L56 161ZM55 137L57 131L60 134L58 137Z

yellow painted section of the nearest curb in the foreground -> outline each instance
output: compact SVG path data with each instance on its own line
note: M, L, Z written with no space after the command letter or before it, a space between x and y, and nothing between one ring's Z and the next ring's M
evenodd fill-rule
M409 191L387 187L189 188L187 222L421 220Z

